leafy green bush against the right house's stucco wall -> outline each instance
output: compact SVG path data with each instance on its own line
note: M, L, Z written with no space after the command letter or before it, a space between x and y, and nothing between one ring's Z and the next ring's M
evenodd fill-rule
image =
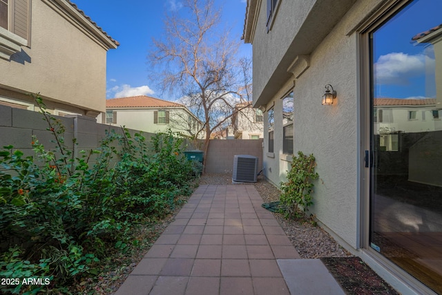
M298 157L293 157L291 169L287 173L287 182L280 182L281 213L285 218L300 218L307 215L309 206L313 204L310 193L314 184L311 180L318 178L318 173L314 172L315 166L313 154L307 157L299 151Z

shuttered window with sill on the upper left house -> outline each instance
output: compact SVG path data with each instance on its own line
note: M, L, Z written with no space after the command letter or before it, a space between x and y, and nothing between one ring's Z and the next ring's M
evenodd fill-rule
M0 0L0 58L9 60L28 46L29 10L29 0Z

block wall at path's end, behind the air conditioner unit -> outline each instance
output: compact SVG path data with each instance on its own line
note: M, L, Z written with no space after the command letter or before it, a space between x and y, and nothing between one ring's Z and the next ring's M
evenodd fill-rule
M204 155L206 173L233 173L235 155L258 157L258 172L262 169L262 138L259 140L211 140Z

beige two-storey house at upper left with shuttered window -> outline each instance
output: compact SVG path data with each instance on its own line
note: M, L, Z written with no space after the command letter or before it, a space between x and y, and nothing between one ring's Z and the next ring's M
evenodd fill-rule
M106 108L106 54L119 46L68 0L0 0L0 104L97 117Z

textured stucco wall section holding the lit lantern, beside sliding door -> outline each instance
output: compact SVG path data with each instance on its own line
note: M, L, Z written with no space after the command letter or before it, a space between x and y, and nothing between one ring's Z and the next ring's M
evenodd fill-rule
M356 68L356 36L347 37L338 27L311 54L310 68L294 88L294 150L313 153L320 175L311 209L354 248L358 231ZM332 106L320 102L325 84L332 84L338 93Z

